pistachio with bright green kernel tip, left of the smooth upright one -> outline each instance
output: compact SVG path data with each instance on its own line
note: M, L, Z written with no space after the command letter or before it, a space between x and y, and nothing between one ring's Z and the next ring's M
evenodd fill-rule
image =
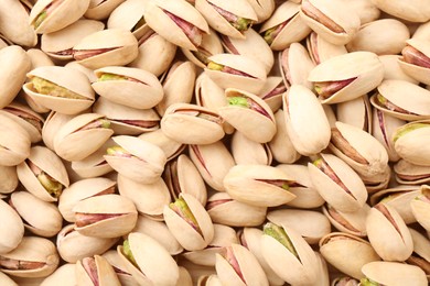
M275 116L270 107L258 96L235 88L227 88L228 105L218 108L218 113L237 131L257 143L267 143L276 134ZM245 103L235 103L239 98Z

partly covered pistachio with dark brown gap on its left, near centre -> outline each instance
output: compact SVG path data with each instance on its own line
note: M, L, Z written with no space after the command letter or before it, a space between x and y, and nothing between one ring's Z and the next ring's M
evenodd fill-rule
M163 178L173 199L178 199L181 193L186 193L193 195L202 206L206 205L206 186L187 155L181 154L176 160L170 161L165 165Z

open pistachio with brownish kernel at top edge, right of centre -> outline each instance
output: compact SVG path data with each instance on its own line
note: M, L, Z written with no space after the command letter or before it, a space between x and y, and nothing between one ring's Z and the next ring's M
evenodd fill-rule
M302 41L311 32L311 29L299 15L299 11L300 6L298 3L286 1L261 25L259 33L265 40L266 36L269 37L269 41L268 41L271 50L282 51L290 44ZM276 35L272 35L273 33Z

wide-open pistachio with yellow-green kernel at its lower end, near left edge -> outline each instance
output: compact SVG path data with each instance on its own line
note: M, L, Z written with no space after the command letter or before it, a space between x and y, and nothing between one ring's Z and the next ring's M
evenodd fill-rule
M68 176L61 158L51 150L34 146L30 156L17 167L18 178L31 194L44 201L57 201Z

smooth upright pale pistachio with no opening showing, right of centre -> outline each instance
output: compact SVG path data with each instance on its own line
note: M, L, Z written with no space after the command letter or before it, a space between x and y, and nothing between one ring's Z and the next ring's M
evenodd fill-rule
M304 86L293 85L282 95L287 133L302 155L324 150L330 142L330 123L321 102Z

